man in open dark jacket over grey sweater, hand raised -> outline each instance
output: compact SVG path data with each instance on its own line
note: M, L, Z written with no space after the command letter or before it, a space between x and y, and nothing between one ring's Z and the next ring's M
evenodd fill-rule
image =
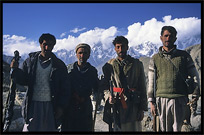
M42 34L39 43L41 51L30 53L22 69L15 60L11 62L11 77L28 86L22 107L23 131L57 131L70 99L67 69L52 53L56 44L53 35Z

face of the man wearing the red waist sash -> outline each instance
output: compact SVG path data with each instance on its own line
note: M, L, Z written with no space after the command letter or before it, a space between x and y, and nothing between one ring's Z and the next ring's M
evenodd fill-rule
M115 51L119 58L124 59L127 56L128 45L115 44Z

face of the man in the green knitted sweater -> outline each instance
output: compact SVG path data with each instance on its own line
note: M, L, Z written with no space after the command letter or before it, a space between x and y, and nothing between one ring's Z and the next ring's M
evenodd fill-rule
M165 47L172 47L176 41L176 36L173 33L170 33L168 30L165 30L163 35L160 36L160 39Z

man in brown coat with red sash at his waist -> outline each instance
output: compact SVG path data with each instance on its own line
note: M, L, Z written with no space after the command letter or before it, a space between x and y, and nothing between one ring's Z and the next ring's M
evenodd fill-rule
M128 40L125 37L117 36L113 44L118 56L103 66L104 89L110 88L111 80L114 91L114 98L109 93L106 106L114 104L117 109L115 111L118 131L141 131L141 121L144 111L147 111L143 64L138 59L127 55Z

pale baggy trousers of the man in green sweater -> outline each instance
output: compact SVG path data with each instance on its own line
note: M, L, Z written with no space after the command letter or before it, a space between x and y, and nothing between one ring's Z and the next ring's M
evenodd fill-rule
M180 132L185 119L188 97L174 99L157 97L157 110L162 132Z

